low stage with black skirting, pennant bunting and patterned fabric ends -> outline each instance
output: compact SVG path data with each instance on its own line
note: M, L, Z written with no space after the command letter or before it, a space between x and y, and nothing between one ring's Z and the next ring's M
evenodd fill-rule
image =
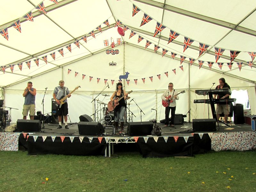
M80 135L77 124L69 129L57 129L58 124L44 124L41 132L0 132L0 150L28 150L28 155L99 155L115 156L118 151L137 151L143 157L194 156L207 151L256 149L256 132L251 125L236 124L231 127L220 123L216 131L194 132L191 123L162 128L161 136L112 135L112 128L105 128L101 135ZM201 130L208 130L202 127Z

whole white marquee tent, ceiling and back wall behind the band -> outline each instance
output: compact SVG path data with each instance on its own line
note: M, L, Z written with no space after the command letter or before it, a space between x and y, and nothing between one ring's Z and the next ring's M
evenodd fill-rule
M51 113L59 80L70 91L80 85L68 99L70 121L78 122L80 115L94 113L91 101L106 83L109 88L102 94L111 95L125 72L129 76L122 79L124 88L133 91L131 98L145 113L142 121L155 118L151 108L157 109L158 120L164 118L161 94L169 82L178 92L186 91L179 95L176 113L186 114L191 108L191 121L208 118L207 105L193 103L204 98L195 90L209 89L212 83L215 87L220 77L231 90L247 90L256 114L254 0L10 0L2 2L0 15L1 99L4 106L19 109L12 109L12 121L22 118L22 93L28 81L37 90L36 111L42 111L48 87L45 113ZM31 16L33 22L28 20ZM126 30L124 36L118 26ZM200 48L207 49L199 56ZM222 55L216 59L218 53ZM101 94L97 99L109 101ZM140 108L131 103L134 121L140 121Z

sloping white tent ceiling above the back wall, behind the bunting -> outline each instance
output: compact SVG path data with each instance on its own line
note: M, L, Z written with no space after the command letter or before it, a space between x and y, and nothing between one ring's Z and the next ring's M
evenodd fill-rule
M14 0L5 1L0 8L0 29L8 27L9 40L0 36L0 66L9 66L23 62L22 71L17 65L13 73L10 68L5 74L0 75L1 86L8 86L17 81L22 81L31 76L45 73L54 68L73 63L76 60L86 58L98 52L105 51L103 41L121 36L114 28L117 20L129 29L122 37L122 41L135 47L145 48L146 40L152 42L145 51L154 51L154 44L168 50L165 56L171 57L171 52L188 58L204 60L204 69L208 69L207 61L215 61L214 46L225 49L218 62L230 62L229 50L241 51L236 57L232 70L227 64L220 70L214 63L212 70L226 73L230 76L237 76L255 82L256 65L252 68L246 64L251 60L247 52L256 52L256 27L255 10L256 2L249 0L216 0L216 1L173 1L173 0L58 0L55 4L44 0L47 14L34 9L42 0ZM140 8L140 12L132 17L132 4ZM23 15L32 11L34 22L27 21ZM140 27L143 14L147 13L153 18L152 21ZM10 27L12 23L20 19L21 33ZM109 21L110 28L103 24ZM156 21L162 23L166 28L156 37L153 37L156 28ZM102 33L96 28L101 26ZM170 29L180 34L172 43L168 43ZM129 38L131 30L137 34ZM95 32L95 38L90 32ZM138 43L138 35L144 40ZM87 43L81 38L87 36ZM193 40L193 44L183 52L184 36ZM79 40L80 49L73 43ZM199 55L199 42L210 45L207 51ZM71 44L70 53L67 45ZM62 57L58 50L63 48ZM162 49L158 50L162 54ZM56 53L53 60L50 53ZM48 64L45 64L42 57L47 55ZM34 59L40 59L39 67ZM26 61L31 60L31 68L28 69ZM159 61L158 61L159 62ZM237 68L236 62L244 62L241 71ZM129 64L126 64L129 65ZM198 66L195 61L194 65Z

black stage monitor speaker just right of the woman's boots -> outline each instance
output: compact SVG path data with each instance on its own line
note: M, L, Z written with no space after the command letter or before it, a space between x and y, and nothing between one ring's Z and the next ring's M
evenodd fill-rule
M127 127L127 134L133 135L151 135L153 129L152 121L130 122Z

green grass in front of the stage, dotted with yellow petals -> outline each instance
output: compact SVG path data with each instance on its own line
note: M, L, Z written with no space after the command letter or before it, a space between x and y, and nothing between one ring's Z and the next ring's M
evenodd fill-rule
M116 155L0 151L0 191L256 191L256 151L209 152L192 158Z

